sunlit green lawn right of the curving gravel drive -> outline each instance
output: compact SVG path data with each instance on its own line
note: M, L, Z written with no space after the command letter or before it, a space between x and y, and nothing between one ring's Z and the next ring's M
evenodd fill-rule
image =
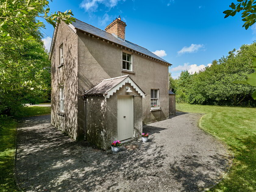
M256 191L256 108L176 104L176 110L205 113L199 127L226 143L234 154L229 174L210 191Z

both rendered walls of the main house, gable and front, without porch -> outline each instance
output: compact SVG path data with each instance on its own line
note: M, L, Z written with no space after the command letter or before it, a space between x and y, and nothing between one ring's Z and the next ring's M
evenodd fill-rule
M63 42L64 66L59 66L59 46ZM122 69L122 49L102 40L76 33L65 23L59 24L52 54L52 124L76 140L83 140L84 91L104 79L129 74L147 94L142 99L142 123L169 118L168 65L133 54L133 72ZM59 116L59 84L64 85L65 116ZM159 89L160 111L150 111L151 89ZM102 103L103 101L101 101ZM95 104L96 105L96 104ZM87 106L87 112L90 106ZM87 114L88 115L88 114ZM135 114L134 114L135 116ZM87 116L87 123L92 121ZM97 123L97 118L93 121Z

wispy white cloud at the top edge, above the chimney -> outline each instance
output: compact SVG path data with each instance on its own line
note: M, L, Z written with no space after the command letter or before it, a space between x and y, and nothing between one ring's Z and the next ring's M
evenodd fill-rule
M125 0L83 0L80 3L80 8L83 8L87 12L95 12L100 4L104 4L108 8L115 7L119 1Z

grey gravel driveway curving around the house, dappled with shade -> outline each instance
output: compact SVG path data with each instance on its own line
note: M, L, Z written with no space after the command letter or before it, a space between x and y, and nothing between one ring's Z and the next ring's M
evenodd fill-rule
M197 127L201 114L178 113L143 127L150 133L118 154L77 142L50 116L23 119L18 128L16 176L25 191L200 191L226 172L225 146Z

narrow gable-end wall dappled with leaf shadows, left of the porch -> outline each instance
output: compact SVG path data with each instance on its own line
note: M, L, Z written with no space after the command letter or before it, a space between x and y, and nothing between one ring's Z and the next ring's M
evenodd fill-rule
M64 66L59 66L59 46L63 43ZM52 115L51 123L70 137L79 139L77 132L77 35L61 21L52 54ZM59 116L59 85L64 86L65 116Z

